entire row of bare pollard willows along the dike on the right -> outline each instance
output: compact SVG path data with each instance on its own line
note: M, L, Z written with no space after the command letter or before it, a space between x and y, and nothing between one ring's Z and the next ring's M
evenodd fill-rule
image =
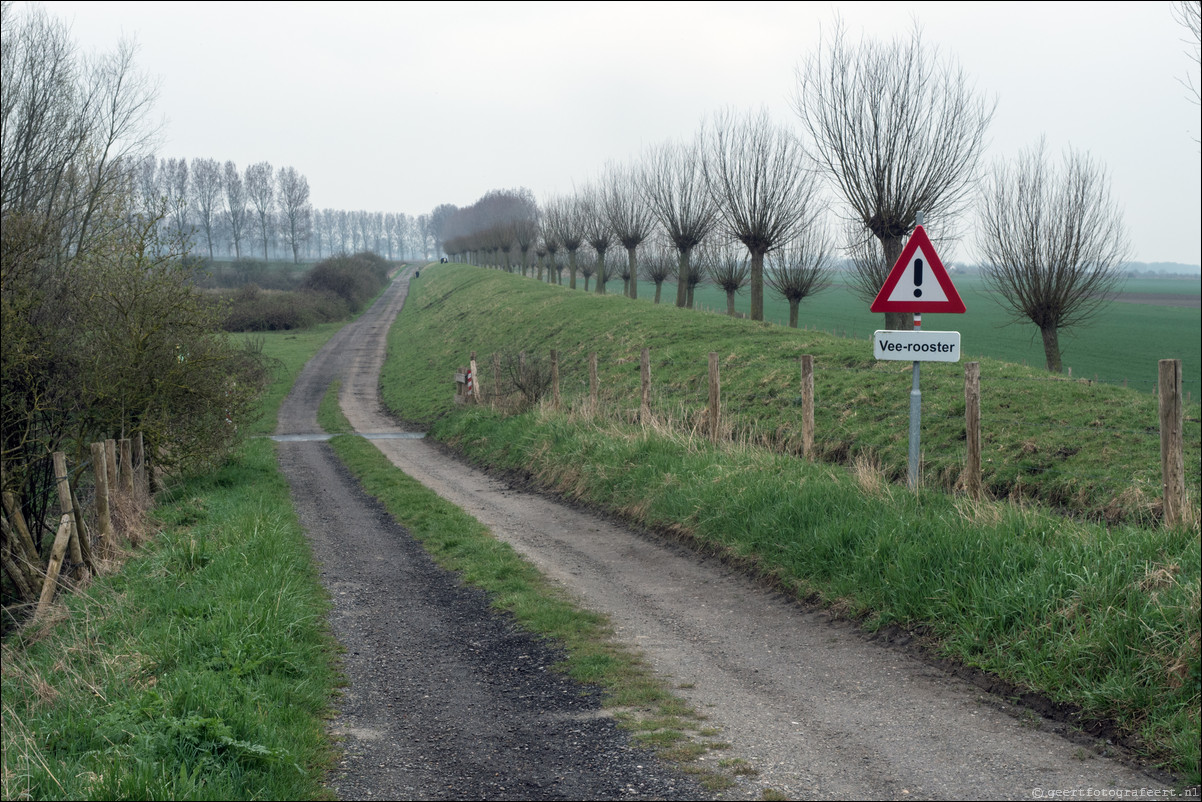
M797 305L825 286L834 263L832 207L841 218L849 284L865 303L920 214L933 221L935 242L947 244L975 208L976 249L996 301L1040 328L1048 368L1059 370L1058 332L1089 322L1113 297L1129 255L1105 167L1072 149L1057 166L1040 143L983 168L995 102L917 28L888 42L855 42L837 25L798 70L792 100L798 132L763 111L721 112L691 141L651 147L541 207L529 190L490 192L447 218L447 236L435 236L457 259L520 265L523 273L534 253L535 274L543 278L546 260L549 281L560 280L563 255L567 285L576 289L583 277L588 289L596 277L599 293L614 273L607 255L620 244L626 263L617 272L630 297L638 297L639 277L668 278L659 265L638 267L641 246L666 243L676 254L668 273L678 307L691 307L694 254L702 248L721 254L709 257L708 273L728 298L743 289L744 267L728 250L739 244L751 319L763 319L768 286L789 299L796 325ZM912 323L908 314L885 320L894 329Z

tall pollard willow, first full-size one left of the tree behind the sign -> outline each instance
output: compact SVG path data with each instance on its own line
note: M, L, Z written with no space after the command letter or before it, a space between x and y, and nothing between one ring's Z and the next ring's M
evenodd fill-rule
M763 320L763 257L814 224L816 180L801 141L761 111L726 112L704 133L706 178L722 226L751 255L751 320Z

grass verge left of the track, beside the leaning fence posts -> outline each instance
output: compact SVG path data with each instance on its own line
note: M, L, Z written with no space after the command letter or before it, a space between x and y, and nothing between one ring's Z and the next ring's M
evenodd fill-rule
M256 430L338 325L264 335ZM160 497L119 574L4 644L2 796L321 798L338 676L326 598L272 444Z

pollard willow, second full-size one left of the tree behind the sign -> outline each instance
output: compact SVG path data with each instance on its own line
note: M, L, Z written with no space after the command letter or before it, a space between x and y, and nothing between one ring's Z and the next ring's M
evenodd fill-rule
M718 206L706 186L701 143L670 142L653 149L644 161L639 186L679 254L677 307L684 308L689 304L689 260L692 249L701 244L718 222Z

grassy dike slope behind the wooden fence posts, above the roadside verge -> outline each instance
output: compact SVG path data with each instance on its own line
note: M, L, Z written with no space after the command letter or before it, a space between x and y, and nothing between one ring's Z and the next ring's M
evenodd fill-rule
M639 352L651 352L653 409L695 428L706 406L707 355L721 362L730 436L801 451L798 360L815 360L816 451L835 463L879 462L891 481L906 474L910 363L877 362L862 340L822 332L596 297L495 271L438 266L417 285L397 358L385 366L385 402L401 417L429 423L452 410L451 374L477 351L480 380L493 381L493 351L560 352L563 393L588 391L589 352L599 355L605 410L631 418L638 408ZM403 352L413 344L410 352ZM1113 385L1052 378L981 360L983 481L996 497L1033 498L1112 521L1154 521L1160 510L1156 400ZM504 381L504 378L502 378ZM964 464L963 367L922 370L923 475L954 487ZM1186 487L1202 485L1200 408L1186 409Z

